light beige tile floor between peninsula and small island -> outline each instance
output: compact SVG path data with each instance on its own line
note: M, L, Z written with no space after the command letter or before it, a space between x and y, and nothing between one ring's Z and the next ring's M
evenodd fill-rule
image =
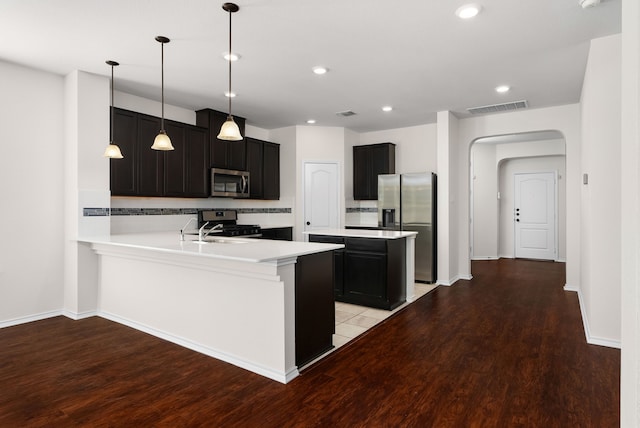
M435 284L415 284L415 300L424 296L436 288ZM350 340L361 335L385 318L409 305L404 303L393 311L367 308L365 306L352 305L350 303L336 302L336 332L333 335L334 349L341 347Z

